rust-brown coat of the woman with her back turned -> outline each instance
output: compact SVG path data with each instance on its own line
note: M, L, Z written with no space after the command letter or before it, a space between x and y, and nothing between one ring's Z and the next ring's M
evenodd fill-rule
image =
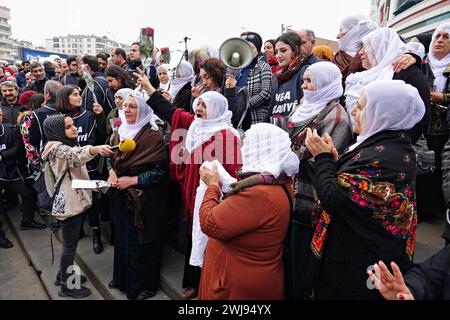
M210 239L199 299L283 299L283 240L290 217L283 188L258 185L219 199L220 190L210 186L200 209L202 231Z

